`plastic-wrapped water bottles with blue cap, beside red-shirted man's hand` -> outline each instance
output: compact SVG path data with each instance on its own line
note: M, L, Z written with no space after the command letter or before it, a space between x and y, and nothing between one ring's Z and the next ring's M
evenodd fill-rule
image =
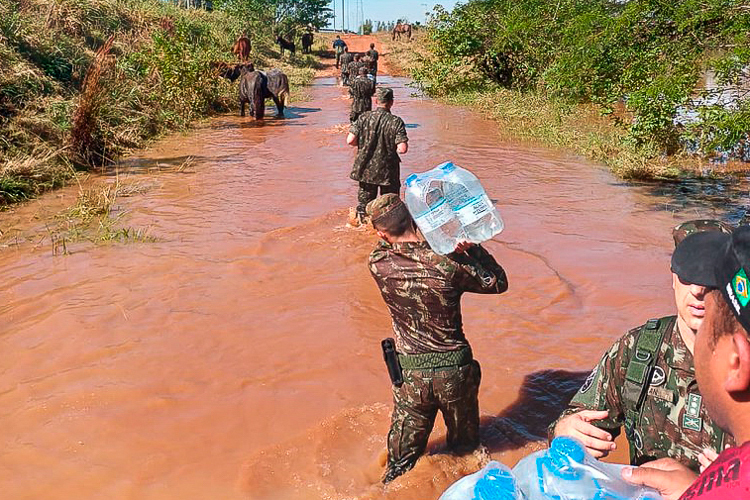
M596 460L576 439L558 437L549 450L518 462L513 475L527 500L661 499L655 490L623 480L624 467Z

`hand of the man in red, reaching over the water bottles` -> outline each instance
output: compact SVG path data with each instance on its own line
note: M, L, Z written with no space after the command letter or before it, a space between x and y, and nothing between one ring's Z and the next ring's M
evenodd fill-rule
M633 484L648 486L661 493L664 500L677 500L698 475L671 458L654 460L640 467L626 467L622 478Z

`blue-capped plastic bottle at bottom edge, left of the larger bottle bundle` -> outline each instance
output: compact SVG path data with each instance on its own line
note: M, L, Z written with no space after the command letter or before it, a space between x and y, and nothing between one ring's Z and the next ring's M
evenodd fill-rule
M523 500L523 496L510 468L493 460L453 483L439 500Z

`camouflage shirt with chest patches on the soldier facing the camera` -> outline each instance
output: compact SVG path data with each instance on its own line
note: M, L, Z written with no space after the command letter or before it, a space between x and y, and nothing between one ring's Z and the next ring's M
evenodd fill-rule
M625 422L625 376L642 328L630 330L615 342L560 419L580 410L607 410L608 418L592 423L613 437L619 435ZM556 424L557 421L550 425L550 437ZM725 441L731 442L729 436ZM698 454L703 448L722 450L721 436L717 436L698 392L693 355L682 340L676 321L664 334L640 422L635 424L633 444L631 449L635 450L635 456L630 457L633 465L671 457L696 472Z

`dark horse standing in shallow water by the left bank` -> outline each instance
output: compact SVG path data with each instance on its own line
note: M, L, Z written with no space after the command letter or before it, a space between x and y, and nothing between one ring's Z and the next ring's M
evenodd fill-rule
M278 111L284 116L284 105L289 99L289 79L279 69L268 73L243 67L240 76L240 116L245 116L245 104L250 105L250 114L262 120L266 113L266 98L273 99Z

